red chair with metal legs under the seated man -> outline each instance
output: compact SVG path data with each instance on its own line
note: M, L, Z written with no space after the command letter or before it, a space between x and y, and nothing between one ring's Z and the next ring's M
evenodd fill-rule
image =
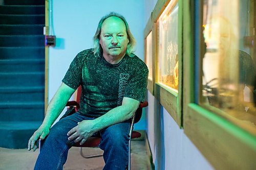
M62 117L68 116L70 114L73 114L78 111L80 108L79 102L80 102L80 95L81 95L81 86L77 88L76 93L76 101L69 101L66 106L68 106L68 110ZM130 130L130 140L129 140L129 159L128 159L128 169L131 169L131 139L139 138L141 137L141 134L139 132L133 131L134 124L139 122L141 115L142 115L142 108L148 106L147 101L141 102L138 109L136 110L133 118L132 118L132 125ZM61 118L62 118L61 117ZM75 143L73 147L80 147L80 155L84 158L93 158L97 156L102 156L102 154L96 154L96 155L84 155L82 152L82 148L98 148L100 143L100 137L89 137L86 142L84 142L82 145L79 144L79 142ZM40 152L40 141L39 141L39 152Z

